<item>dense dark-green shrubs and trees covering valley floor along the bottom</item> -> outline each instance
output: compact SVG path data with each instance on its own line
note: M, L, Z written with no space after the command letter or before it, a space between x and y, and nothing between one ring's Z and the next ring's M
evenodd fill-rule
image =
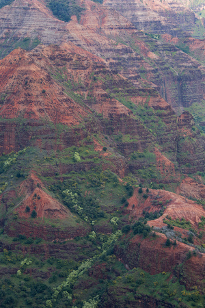
M139 222L132 227L133 233L141 234L143 237L148 236L145 234L146 228L145 224ZM124 234L128 234L130 230L130 226L124 226ZM161 300L161 303L172 303L176 306L182 303L187 307L192 307L194 304L197 307L203 306L203 298L197 287L187 291L184 285L181 285L169 272L150 275L141 268L127 270L114 253L115 245L123 242L120 231L109 236L93 231L87 239L72 240L70 244L74 245L78 252L81 245L87 246L85 251L81 252L84 257L83 262L80 259L74 259L73 256L72 259L70 257L67 259L44 258L44 255L23 256L4 249L3 253L0 253L1 264L8 265L11 269L16 268L16 274L11 275L9 279L1 279L1 307L11 305L29 307L31 303L37 307L55 305L72 307L72 300L75 301L75 307L86 307L86 303L97 307L98 303L105 300L105 296L109 305L111 300L109 294L115 297L117 305L124 305L131 299L137 305L138 300L143 300L144 296L146 300L151 296ZM66 249L66 243L51 245L59 251ZM94 250L91 246L96 248L98 246L98 249ZM86 255L90 256L89 259ZM77 257L76 254L75 256ZM191 256L187 255L188 257ZM29 274L33 272L44 275L51 268L51 275L46 280L36 280L33 274ZM169 283L170 279L171 283ZM125 294L123 290L126 290Z

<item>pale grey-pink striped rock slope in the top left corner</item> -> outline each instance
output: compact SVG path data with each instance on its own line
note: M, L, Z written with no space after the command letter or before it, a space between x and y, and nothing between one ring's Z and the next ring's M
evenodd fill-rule
M44 44L56 44L64 40L73 40L66 23L54 18L51 11L38 0L16 0L5 6L0 12L1 42L10 36L10 40L20 38L38 38ZM17 31L16 31L17 29Z

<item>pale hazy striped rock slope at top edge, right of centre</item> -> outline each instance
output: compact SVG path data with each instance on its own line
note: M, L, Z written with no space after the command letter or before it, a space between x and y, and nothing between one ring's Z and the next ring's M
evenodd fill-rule
M103 5L118 10L137 29L149 31L156 34L169 33L180 34L174 29L174 25L184 26L184 30L191 29L195 23L195 14L185 8L180 1L109 1L105 0ZM188 26L188 28L187 28Z

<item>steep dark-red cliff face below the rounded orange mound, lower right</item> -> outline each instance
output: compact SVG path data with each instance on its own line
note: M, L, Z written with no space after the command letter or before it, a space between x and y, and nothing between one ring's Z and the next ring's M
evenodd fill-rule
M193 252L193 247L178 241L176 246L167 247L166 240L167 237L161 233L156 233L155 238L145 239L141 235L135 235L124 253L120 248L116 248L116 253L130 268L139 266L150 274L172 272L188 290L197 285L200 292L203 292L205 255L199 254L187 259L187 253Z

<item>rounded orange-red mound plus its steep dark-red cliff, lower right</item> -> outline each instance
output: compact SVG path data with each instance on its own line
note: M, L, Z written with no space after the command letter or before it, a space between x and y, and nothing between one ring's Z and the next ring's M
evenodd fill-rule
M182 182L182 187L190 183L190 179L187 178L184 180L184 183ZM203 190L202 186L200 188ZM197 190L197 193L200 191ZM205 214L202 205L198 205L183 196L164 190L150 190L147 193L143 189L143 193L148 194L146 200L141 196L142 194L138 193L138 189L128 199L129 205L127 211L130 211L131 218L135 219L143 216L143 211L159 211L163 206L165 207L163 215L156 220L148 221L150 227L161 228L167 226L167 224L163 223L163 218L167 220L166 216L169 216L174 220L176 218L184 218L191 222L193 229L198 229L197 224ZM156 201L156 203L153 203L153 201ZM180 232L184 237L188 236L188 231L180 227L174 227L174 231ZM167 236L158 232L156 232L155 237L150 236L149 238L143 238L142 235L135 235L128 243L128 246L126 246L126 251L122 252L119 247L117 248L117 254L130 268L139 266L143 270L150 272L150 274L158 274L163 271L172 272L176 274L182 284L186 285L188 290L191 290L193 285L197 285L200 292L203 292L205 254L198 253L190 259L187 259L187 253L189 251L193 252L195 248L178 241L176 241L176 245L171 244L171 246L167 247L165 245L166 240ZM174 240L171 240L171 242L173 243ZM197 242L198 239L195 238L195 244ZM202 242L204 242L203 239ZM178 267L180 264L182 266Z

